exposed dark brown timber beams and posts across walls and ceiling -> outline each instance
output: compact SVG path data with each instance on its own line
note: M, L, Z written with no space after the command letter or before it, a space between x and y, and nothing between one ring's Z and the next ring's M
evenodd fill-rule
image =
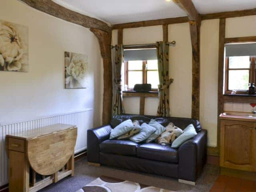
M227 42L252 42L256 40L256 37L244 37L244 38L225 38L225 18L241 17L256 15L256 8L249 10L220 12L210 14L198 14L192 0L173 0L180 8L182 8L187 16L177 18L166 18L158 20L147 20L140 22L130 22L123 24L114 24L108 26L105 22L97 20L95 18L79 14L59 4L54 3L52 0L20 0L37 10L55 16L57 18L72 22L90 30L96 35L100 44L101 56L103 59L104 67L104 94L103 94L103 112L102 112L102 124L108 124L112 116L112 62L111 62L111 38L112 30L118 29L118 44L122 43L123 29L124 28L136 28L145 26L163 26L164 41L168 40L168 24L189 22L190 34L192 42L192 118L199 119L199 82L200 82L200 22L201 20L220 19L220 44L219 44L219 82L218 82L218 114L223 112L224 102L244 101L256 102L254 97L229 97L222 94L221 87L223 85L223 56L224 44ZM219 131L218 124L218 146L219 146ZM208 152L213 155L218 155L219 150L217 148L208 148Z

